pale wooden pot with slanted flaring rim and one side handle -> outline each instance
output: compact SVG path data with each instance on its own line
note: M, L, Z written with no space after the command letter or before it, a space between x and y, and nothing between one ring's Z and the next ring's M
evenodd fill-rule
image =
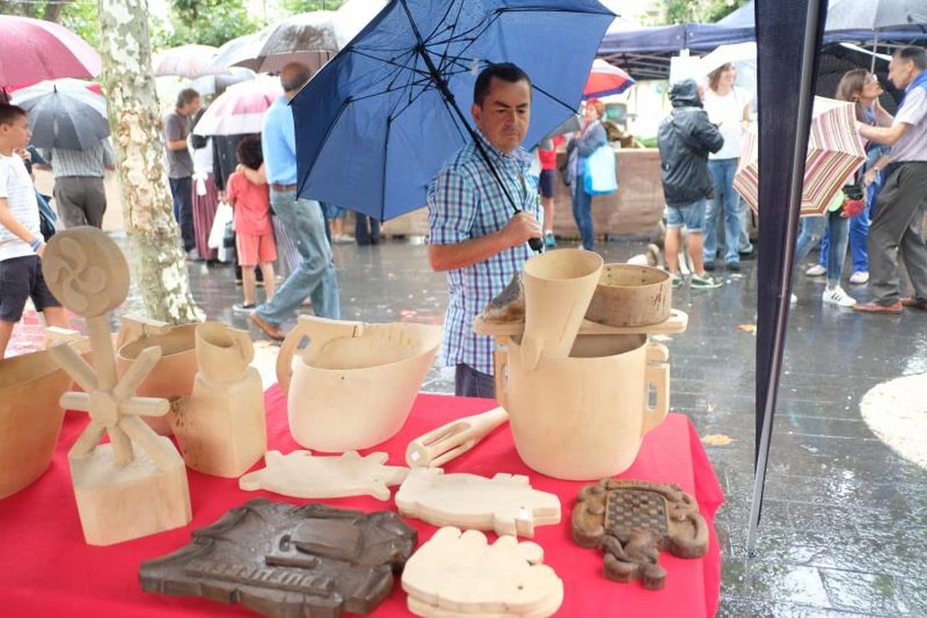
M290 433L298 444L342 452L394 436L412 411L442 328L362 324L300 315L277 357ZM310 345L293 362L303 338Z

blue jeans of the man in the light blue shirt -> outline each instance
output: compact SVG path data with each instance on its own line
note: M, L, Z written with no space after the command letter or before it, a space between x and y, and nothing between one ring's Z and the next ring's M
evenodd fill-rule
M315 315L338 319L338 280L332 247L325 238L322 207L315 200L298 200L295 191L271 191L271 206L293 238L302 262L257 313L268 324L278 326L309 296Z

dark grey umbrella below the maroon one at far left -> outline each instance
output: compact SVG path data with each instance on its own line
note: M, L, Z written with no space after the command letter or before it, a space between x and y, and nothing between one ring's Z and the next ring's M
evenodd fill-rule
M16 92L29 114L32 146L86 150L109 135L106 101L83 84L43 82Z

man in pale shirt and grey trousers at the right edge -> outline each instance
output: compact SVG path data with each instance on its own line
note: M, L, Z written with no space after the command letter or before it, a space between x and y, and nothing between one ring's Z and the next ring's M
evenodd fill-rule
M853 307L870 314L900 314L906 306L927 310L927 243L921 233L927 208L927 50L897 50L888 77L905 91L892 125L857 125L859 135L892 147L870 227L872 301ZM914 296L908 298L900 298L898 291L899 249L914 286Z

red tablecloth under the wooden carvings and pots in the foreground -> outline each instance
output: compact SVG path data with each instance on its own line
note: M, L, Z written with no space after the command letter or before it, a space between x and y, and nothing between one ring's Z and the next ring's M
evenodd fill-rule
M267 429L271 448L285 453L298 448L289 435L286 401L277 387L265 394ZM422 394L399 435L377 449L389 454L389 463L401 465L405 447L414 437L441 424L489 409L493 402L443 395ZM50 470L19 494L0 500L0 599L7 615L155 616L198 613L249 614L240 606L204 599L166 597L143 593L138 586L138 565L183 546L190 531L218 520L228 509L248 499L292 498L267 492L243 492L235 479L221 479L188 470L193 521L186 527L154 534L111 547L84 544L77 507L70 486L67 452L87 422L85 414L70 412ZM262 467L261 462L258 467ZM702 560L679 560L662 554L667 586L658 592L640 583L617 584L603 578L602 556L593 549L573 544L569 513L580 487L543 477L518 458L507 425L494 431L474 450L451 462L448 472L472 472L492 476L497 472L527 474L534 487L560 496L563 521L541 526L535 541L544 547L544 562L564 580L565 599L559 616L696 616L714 615L720 584L720 554L712 526L711 545ZM679 483L698 499L711 523L723 501L714 471L705 456L689 419L671 414L644 440L641 454L622 478ZM396 488L394 488L395 490ZM393 502L374 498L326 500L327 504L363 510L395 509ZM419 531L419 542L436 528L410 521ZM490 538L494 538L490 534ZM399 582L392 596L377 610L378 616L408 615Z

